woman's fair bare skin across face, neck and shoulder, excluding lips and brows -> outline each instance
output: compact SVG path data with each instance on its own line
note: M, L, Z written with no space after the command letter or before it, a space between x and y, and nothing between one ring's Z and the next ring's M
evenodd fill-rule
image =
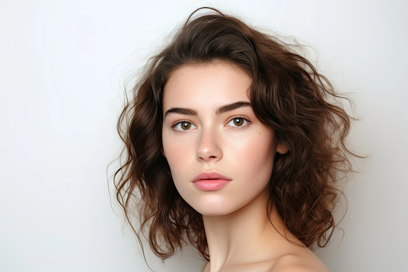
M251 107L215 114L224 104L250 102L250 84L251 77L237 67L218 63L183 66L173 71L164 87L163 113L173 107L194 108L198 113L164 118L162 153L178 192L202 214L211 259L203 269L327 272L315 254L285 228L274 205L269 217L276 230L266 214L274 155L286 153L286 146L276 143L273 130L257 119ZM245 120L236 123L236 118ZM183 128L185 122L191 125ZM211 170L232 181L215 191L197 189L194 177Z

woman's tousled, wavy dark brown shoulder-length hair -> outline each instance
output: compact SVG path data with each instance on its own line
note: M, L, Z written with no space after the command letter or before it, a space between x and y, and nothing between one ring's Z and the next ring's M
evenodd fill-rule
M204 8L217 13L189 21L193 13ZM348 155L363 158L345 145L350 119L358 119L329 100L339 97L352 101L336 94L329 80L296 53L301 45L285 43L217 9L199 9L146 63L141 80L132 88L133 99L129 102L126 96L118 121L118 133L125 144L119 157L126 155L126 161L113 175L113 183L143 255L142 242L131 223L134 210L138 211L140 230L151 221L149 245L158 257L171 257L175 248L182 247L186 234L209 261L202 216L177 192L161 153L162 94L175 69L220 61L234 64L251 76L249 98L256 117L274 130L279 144L288 147L286 154L275 155L269 200L275 201L286 227L302 243L310 247L317 241L319 247L326 246L337 226L333 209L339 196L344 196L337 188L337 174L356 172ZM328 235L330 228L333 230ZM162 250L160 242L168 250Z

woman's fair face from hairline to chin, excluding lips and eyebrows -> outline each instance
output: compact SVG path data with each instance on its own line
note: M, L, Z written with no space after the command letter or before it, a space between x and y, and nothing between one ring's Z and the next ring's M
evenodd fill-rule
M175 187L202 215L226 215L243 207L267 186L275 152L273 130L259 122L251 106L217 109L247 102L251 78L224 64L174 71L164 86L162 153ZM245 104L245 103L242 103ZM202 171L217 171L231 181L218 190L200 190L194 184Z

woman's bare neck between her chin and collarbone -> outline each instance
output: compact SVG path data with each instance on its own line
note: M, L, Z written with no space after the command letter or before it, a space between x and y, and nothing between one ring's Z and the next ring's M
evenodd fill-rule
M231 265L267 261L277 256L278 245L289 243L284 238L285 233L291 241L301 243L284 227L275 204L270 210L269 221L267 188L235 212L219 216L203 215L211 272Z

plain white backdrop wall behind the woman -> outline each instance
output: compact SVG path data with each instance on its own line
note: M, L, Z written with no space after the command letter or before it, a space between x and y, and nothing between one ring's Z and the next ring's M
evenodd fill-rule
M346 188L344 236L317 256L331 272L407 271L403 0L2 0L0 271L150 271L108 190L124 80L208 4L313 46L312 62L353 94L350 144L370 158ZM144 250L155 271L203 263L191 246L164 262Z

